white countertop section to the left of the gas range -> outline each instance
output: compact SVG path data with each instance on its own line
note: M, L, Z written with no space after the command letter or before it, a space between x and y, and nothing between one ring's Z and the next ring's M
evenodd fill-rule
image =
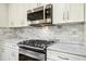
M9 47L17 50L19 49L17 43L25 39L11 38L11 39L0 40L0 47Z

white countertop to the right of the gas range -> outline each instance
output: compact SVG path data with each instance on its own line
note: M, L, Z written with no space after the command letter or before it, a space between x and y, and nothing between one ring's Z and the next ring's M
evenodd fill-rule
M70 44L70 43L57 42L57 43L48 47L48 49L53 50L53 51L60 51L60 52L86 56L86 49L84 46L81 46L81 44Z

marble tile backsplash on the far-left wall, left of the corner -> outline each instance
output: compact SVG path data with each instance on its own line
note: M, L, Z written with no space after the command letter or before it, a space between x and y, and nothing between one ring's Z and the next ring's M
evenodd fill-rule
M0 40L17 38L15 29L0 28Z

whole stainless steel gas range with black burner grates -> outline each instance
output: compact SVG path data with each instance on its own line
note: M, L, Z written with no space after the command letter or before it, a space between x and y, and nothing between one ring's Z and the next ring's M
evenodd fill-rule
M19 61L47 61L47 47L54 43L48 40L24 40L19 42Z

